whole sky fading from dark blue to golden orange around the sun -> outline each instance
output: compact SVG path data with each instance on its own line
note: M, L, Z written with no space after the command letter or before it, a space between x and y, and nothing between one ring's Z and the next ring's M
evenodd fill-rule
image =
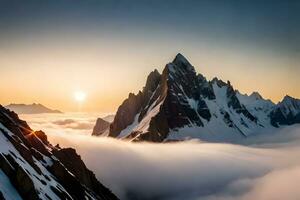
M300 1L0 1L0 103L114 112L181 52L274 102L300 98Z

